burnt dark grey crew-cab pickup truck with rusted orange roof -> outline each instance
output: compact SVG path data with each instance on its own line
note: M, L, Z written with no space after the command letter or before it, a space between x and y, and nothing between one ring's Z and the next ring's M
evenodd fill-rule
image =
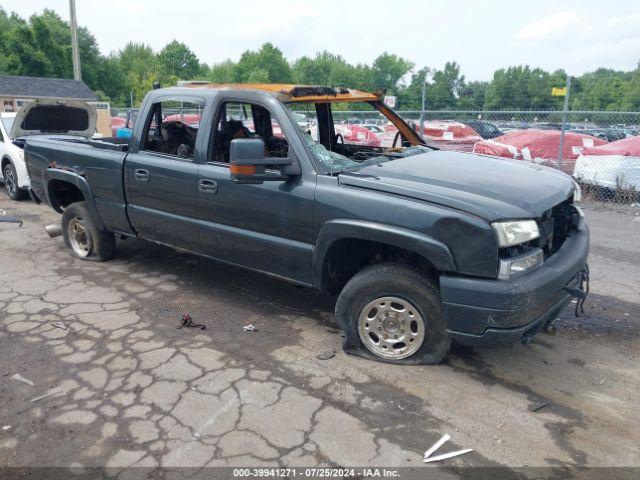
M393 141L346 141L333 118L346 103L386 117ZM430 148L376 94L157 89L128 145L41 135L25 156L73 256L109 260L116 236L139 237L337 294L343 347L368 358L526 342L584 295L569 176Z

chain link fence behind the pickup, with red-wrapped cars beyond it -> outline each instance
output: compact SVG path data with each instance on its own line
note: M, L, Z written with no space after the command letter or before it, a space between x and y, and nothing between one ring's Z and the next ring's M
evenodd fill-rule
M113 125L125 126L128 111L111 109L112 118L116 119ZM191 121L191 117L195 117L191 114L199 112L177 109L171 113L186 115ZM421 132L428 144L439 149L557 168L573 176L585 196L640 202L640 112L414 110L397 113ZM298 112L298 115L306 120L298 123L306 125L304 128L313 134L314 115L310 112ZM336 133L349 138L351 143L392 147L396 140L397 129L373 109L333 111L333 118Z

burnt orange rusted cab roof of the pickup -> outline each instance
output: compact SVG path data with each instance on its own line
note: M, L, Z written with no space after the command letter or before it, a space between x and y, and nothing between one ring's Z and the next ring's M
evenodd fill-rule
M215 90L261 90L271 93L285 103L308 102L375 102L381 94L367 93L344 87L320 85L296 85L290 83L207 83L186 82L187 88L211 88Z

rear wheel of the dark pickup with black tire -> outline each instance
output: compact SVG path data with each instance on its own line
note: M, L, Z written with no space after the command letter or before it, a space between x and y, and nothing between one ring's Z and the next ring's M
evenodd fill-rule
M78 242L72 239L73 226L78 224L83 229L82 234L88 238L88 241L85 241L87 248L83 253L79 253L79 249L74 248ZM62 214L62 235L64 243L69 248L69 253L81 260L104 262L115 256L116 239L114 234L98 230L86 202L72 203L65 208Z

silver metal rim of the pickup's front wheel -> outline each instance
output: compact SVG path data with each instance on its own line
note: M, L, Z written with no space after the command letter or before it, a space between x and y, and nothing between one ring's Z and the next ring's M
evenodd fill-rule
M425 324L411 302L399 297L380 297L360 312L358 334L374 355L399 360L410 357L422 346Z

